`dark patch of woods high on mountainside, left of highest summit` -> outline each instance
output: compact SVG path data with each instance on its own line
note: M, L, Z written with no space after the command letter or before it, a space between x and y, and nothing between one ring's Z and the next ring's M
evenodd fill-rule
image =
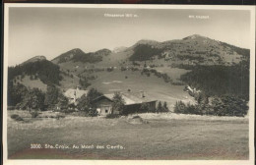
M134 48L134 53L130 56L131 61L146 61L151 60L154 56L159 56L162 50L152 47L148 44L139 44Z

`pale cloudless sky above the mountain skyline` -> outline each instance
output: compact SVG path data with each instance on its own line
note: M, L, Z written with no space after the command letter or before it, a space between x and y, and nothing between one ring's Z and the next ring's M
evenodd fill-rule
M106 17L105 14L131 14L133 17ZM52 60L73 48L85 52L112 50L132 46L141 39L165 41L192 34L249 48L250 13L241 10L11 7L8 64L14 66L36 55Z

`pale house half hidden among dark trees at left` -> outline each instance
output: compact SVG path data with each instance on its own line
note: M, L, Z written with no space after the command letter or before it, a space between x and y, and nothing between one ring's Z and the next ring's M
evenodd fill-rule
M77 105L78 99L82 97L82 95L88 94L88 90L81 90L79 87L69 88L64 92L64 95L69 99L69 104Z

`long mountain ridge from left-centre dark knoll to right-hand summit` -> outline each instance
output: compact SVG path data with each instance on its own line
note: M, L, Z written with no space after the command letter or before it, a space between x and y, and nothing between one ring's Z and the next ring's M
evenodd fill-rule
M152 64L165 63L174 66L232 66L243 60L248 60L249 53L249 49L193 34L182 39L163 42L142 39L130 47L117 47L113 51L100 49L96 52L85 53L76 48L57 56L52 62L61 64L61 66L74 63L73 68L78 65L77 62L83 63L83 66L94 64L94 67L112 67L125 61L131 63L151 61ZM81 64L79 65L81 66Z

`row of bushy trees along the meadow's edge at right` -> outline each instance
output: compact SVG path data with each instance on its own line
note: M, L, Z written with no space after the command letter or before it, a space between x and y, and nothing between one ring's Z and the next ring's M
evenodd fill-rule
M211 103L199 97L195 105L177 101L174 106L175 113L196 115L245 116L247 111L248 106L244 99L230 95L216 96Z

